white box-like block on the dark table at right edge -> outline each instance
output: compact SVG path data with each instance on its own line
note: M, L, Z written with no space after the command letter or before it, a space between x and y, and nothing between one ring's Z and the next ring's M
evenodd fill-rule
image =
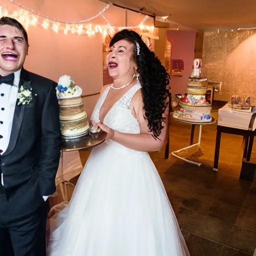
M228 108L228 103L218 109L218 125L243 130L255 130L256 111L241 112Z

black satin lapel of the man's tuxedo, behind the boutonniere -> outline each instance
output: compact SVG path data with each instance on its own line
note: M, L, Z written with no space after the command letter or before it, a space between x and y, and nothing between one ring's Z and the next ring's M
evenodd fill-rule
M24 88L29 88L30 83L31 83L31 81L28 80L28 72L22 68L21 72L20 72L18 89L20 88L21 85L23 85ZM16 145L20 127L21 127L22 120L23 120L25 107L26 107L26 105L22 105L22 104L18 105L16 103L16 105L15 105L9 144L8 144L6 151L2 154L2 156L5 156L5 155L11 153L11 151L14 149L14 146Z

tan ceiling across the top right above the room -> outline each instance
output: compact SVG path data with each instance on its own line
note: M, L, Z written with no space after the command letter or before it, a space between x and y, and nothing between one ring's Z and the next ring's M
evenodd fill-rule
M107 1L107 0L104 0ZM122 7L168 19L192 29L256 26L256 0L112 0Z

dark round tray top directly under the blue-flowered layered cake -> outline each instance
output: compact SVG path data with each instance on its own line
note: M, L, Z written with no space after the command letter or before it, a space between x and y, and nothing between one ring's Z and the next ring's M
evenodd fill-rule
M89 132L88 134L80 137L62 137L61 149L62 151L90 150L94 146L104 142L106 135L106 132L100 130L96 133Z

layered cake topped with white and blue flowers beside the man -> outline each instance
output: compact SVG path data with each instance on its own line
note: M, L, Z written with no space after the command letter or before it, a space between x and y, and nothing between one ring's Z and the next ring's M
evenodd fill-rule
M88 133L87 113L82 103L82 89L68 75L59 77L56 87L60 129L63 137L80 137Z

